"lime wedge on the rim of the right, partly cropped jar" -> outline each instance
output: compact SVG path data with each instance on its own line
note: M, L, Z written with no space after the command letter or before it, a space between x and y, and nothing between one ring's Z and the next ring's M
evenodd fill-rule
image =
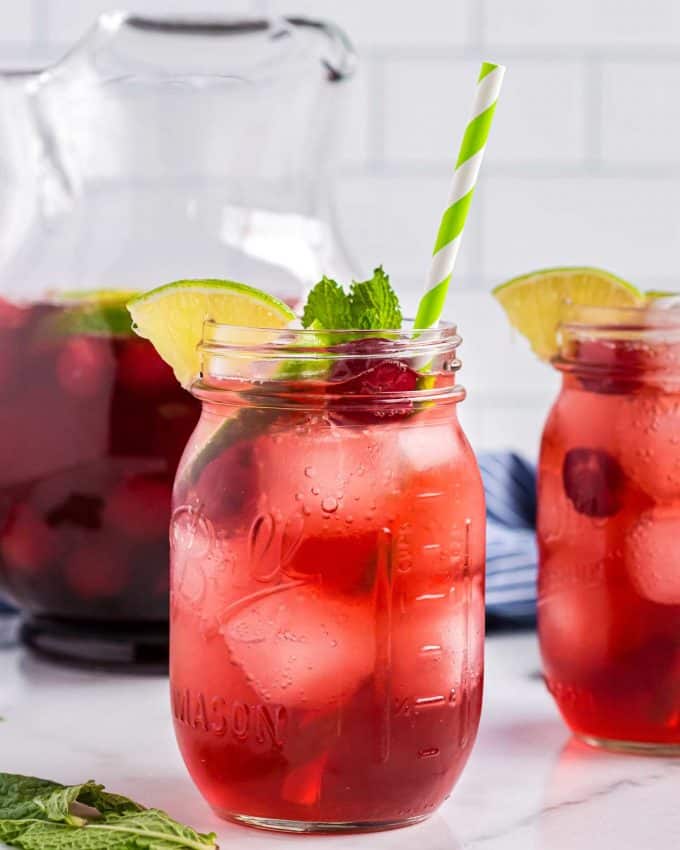
M557 329L565 307L634 307L645 296L620 277L592 268L541 269L497 286L493 295L510 324L531 343L533 351L550 360L558 352Z

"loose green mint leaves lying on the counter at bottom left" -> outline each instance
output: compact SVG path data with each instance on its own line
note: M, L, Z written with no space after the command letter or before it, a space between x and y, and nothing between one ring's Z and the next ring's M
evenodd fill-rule
M0 841L23 850L205 850L214 833L183 826L103 785L0 773Z

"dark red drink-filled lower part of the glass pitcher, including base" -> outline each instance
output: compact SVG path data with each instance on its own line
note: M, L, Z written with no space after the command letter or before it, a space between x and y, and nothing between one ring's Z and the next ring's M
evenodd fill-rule
M198 411L132 334L129 297L0 301L0 590L39 649L162 664L172 479Z

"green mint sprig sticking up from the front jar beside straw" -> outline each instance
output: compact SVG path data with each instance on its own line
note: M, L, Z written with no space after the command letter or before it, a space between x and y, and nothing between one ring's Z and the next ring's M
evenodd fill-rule
M302 325L314 330L396 330L402 318L389 276L378 266L370 280L353 281L349 292L322 278L307 296Z

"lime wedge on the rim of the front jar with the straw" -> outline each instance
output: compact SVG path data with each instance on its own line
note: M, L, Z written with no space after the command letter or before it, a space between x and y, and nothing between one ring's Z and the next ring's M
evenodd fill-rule
M243 328L283 328L295 319L283 301L230 280L178 280L133 298L128 310L134 330L151 340L183 387L199 373L206 319Z

